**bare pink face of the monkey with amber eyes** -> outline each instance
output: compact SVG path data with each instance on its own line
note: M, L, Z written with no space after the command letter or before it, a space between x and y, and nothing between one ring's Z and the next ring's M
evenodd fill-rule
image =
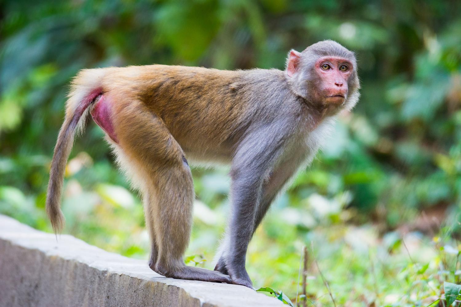
M348 79L352 74L352 63L338 57L322 57L315 62L315 72L319 76L320 100L343 103L348 94Z

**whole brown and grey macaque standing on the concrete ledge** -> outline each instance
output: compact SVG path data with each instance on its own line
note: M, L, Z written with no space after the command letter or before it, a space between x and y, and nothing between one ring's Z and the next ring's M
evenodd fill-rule
M291 50L285 71L147 65L80 71L51 164L47 214L62 230L74 135L90 113L142 194L149 266L166 277L252 288L245 257L272 200L359 98L354 53L334 41ZM187 158L187 159L186 159ZM194 186L188 160L231 165L231 218L214 271L186 266Z

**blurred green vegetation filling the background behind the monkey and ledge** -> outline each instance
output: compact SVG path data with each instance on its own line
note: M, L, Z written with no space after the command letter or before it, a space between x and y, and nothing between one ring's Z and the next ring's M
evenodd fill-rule
M274 204L250 244L248 272L255 287L282 290L298 304L442 304L443 282L459 283L461 275L460 6L456 0L4 0L0 213L51 231L44 213L49 165L67 85L79 69L153 63L284 69L291 48L333 39L357 54L361 100ZM147 261L142 205L102 136L91 122L72 151L65 233ZM227 172L193 169L189 265L213 268L229 210ZM298 286L303 246L306 296Z

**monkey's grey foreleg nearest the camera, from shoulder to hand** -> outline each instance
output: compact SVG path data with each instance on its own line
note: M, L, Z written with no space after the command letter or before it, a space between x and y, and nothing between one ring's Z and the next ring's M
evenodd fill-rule
M248 243L272 201L273 195L269 195L271 193L263 193L268 191L265 178L284 157L284 148L293 134L290 127L288 122L282 120L278 124L265 125L251 131L239 144L233 157L232 215L215 267L219 272L228 273L232 283L253 288L245 269ZM274 177L272 181L278 191L278 186L283 185L285 180L278 178L275 182ZM276 194L277 192L274 193ZM261 201L264 201L263 207L260 207Z

